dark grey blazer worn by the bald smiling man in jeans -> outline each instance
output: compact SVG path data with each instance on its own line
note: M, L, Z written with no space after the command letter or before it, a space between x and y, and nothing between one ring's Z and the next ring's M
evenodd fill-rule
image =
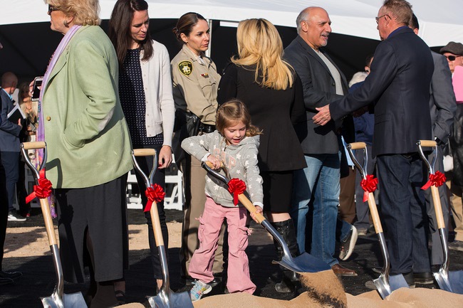
M348 83L343 72L323 51L323 48L320 51L338 69L343 83L343 91L347 94ZM285 48L284 57L293 66L302 81L308 129L307 137L301 143L303 152L305 154L338 153L339 136L336 134L336 127L339 127L341 122L335 124L335 122L330 121L325 126L318 126L313 124L312 120L312 117L317 113L315 107L323 107L343 97L343 95L336 94L335 82L328 66L301 36L297 36Z

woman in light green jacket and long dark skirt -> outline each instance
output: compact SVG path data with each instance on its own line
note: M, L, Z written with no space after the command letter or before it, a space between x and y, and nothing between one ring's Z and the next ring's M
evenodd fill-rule
M117 304L114 280L128 265L125 179L130 135L118 95L118 57L98 26L98 0L46 0L63 34L43 77L38 141L58 203L64 279L84 282L90 308Z

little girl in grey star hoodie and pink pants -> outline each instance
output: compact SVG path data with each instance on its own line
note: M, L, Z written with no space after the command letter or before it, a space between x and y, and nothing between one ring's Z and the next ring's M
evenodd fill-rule
M184 139L182 148L201 161L210 161L213 169L219 169L223 164L230 179L244 181L256 211L261 213L264 207L262 178L257 166L261 132L251 124L249 112L240 100L229 100L219 107L216 125L215 132ZM249 277L249 261L244 251L248 245L246 208L239 203L235 206L227 185L209 174L206 179L206 196L204 212L199 217L200 244L189 264L189 275L197 280L190 291L192 301L197 301L212 290L208 283L214 279L212 265L224 218L227 218L229 233L227 289L230 293L252 294L256 285ZM255 220L254 214L251 217Z

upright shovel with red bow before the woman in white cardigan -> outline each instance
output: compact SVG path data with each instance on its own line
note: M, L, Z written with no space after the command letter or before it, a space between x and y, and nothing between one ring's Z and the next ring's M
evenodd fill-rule
M137 164L135 156L153 156L153 164L150 172L150 178L142 171ZM157 153L155 149L134 149L132 151L132 161L135 170L145 179L146 188L152 186L153 177L157 169ZM169 269L167 267L167 254L164 246L164 238L162 238L161 223L159 221L159 213L157 213L156 202L153 201L150 209L152 229L155 233L155 241L157 245L157 253L159 254L161 270L162 270L162 286L156 296L148 297L151 307L158 308L193 308L192 299L188 292L174 293L170 290Z

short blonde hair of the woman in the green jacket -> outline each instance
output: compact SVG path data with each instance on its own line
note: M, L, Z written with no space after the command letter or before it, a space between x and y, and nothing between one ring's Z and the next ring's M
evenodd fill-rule
M81 26L98 26L101 22L98 0L43 0L55 6L66 15L74 17L74 24Z

